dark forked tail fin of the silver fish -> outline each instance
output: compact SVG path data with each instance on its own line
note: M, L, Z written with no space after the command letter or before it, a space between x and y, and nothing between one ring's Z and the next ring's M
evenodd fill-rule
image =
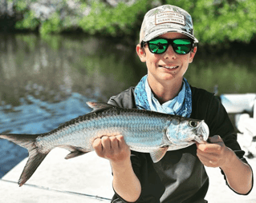
M40 153L39 148L35 145L35 139L39 134L0 134L0 138L14 142L28 150L29 158L26 162L25 168L22 171L18 180L18 185L22 186L35 173L43 159L49 152Z

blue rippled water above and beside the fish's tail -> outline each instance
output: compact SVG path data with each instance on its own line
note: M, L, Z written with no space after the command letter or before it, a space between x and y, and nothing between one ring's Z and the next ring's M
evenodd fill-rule
M91 100L72 93L61 102L50 103L28 95L19 99L18 106L8 104L0 107L1 132L49 132L65 121L90 112L86 102ZM0 177L28 156L26 149L6 140L0 140L0 154Z

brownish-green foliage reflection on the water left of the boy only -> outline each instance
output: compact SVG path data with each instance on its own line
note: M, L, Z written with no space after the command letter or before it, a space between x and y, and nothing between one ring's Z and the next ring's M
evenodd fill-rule
M49 101L59 92L64 98L71 92L87 98L97 93L98 100L106 101L135 85L142 75L136 68L135 53L108 40L63 36L42 39L34 34L0 38L0 100L12 105L18 105L14 102L28 94Z

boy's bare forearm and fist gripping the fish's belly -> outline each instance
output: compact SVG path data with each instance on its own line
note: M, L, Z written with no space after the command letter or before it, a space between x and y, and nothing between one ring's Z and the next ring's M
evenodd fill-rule
M134 202L140 197L140 180L132 169L131 150L122 135L103 136L92 142L95 152L110 161L113 189L125 201Z

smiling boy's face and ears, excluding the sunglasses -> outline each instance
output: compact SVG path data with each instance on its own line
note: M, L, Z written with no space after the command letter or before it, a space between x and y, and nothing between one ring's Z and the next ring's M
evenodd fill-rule
M188 38L180 33L166 33L159 38ZM148 68L148 82L165 83L170 80L181 82L183 76L188 69L189 63L193 62L197 48L189 54L177 54L173 51L173 47L169 46L168 50L163 54L152 54L148 50L148 45L144 46L144 50L140 45L136 47L137 54L141 62L146 62ZM169 68L168 68L169 67Z

